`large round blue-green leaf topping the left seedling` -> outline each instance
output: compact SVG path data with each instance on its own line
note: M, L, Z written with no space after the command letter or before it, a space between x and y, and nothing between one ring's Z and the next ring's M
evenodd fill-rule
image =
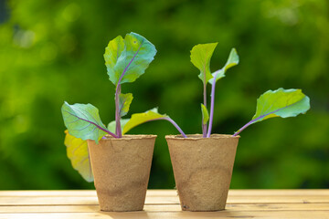
M143 36L127 34L118 36L105 48L105 65L111 82L117 85L133 82L143 75L156 54L154 45Z

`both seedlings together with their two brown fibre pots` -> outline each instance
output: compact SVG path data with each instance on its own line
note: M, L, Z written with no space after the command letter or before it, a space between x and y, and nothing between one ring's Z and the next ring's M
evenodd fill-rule
M191 61L200 70L204 102L201 104L202 134L186 135L157 109L128 113L133 94L122 93L122 84L143 75L154 59L156 49L135 33L117 36L105 49L105 65L115 86L115 120L106 127L97 108L91 104L61 108L66 130L65 145L73 167L88 182L94 181L102 211L143 210L156 135L126 135L133 127L152 120L168 120L180 132L168 135L175 183L182 210L218 211L225 209L239 133L249 125L272 117L294 117L310 109L310 99L301 89L268 90L257 99L256 113L233 135L211 134L215 86L228 68L238 65L233 48L223 68L210 71L210 58L217 43L196 45ZM207 84L211 84L210 113L207 110Z

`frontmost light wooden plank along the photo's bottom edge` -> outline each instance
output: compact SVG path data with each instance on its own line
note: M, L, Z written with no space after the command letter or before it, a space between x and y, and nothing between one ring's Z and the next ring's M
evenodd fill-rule
M329 211L282 211L282 212L131 212L131 213L50 213L50 214L0 214L0 219L198 219L198 218L322 218L329 219Z

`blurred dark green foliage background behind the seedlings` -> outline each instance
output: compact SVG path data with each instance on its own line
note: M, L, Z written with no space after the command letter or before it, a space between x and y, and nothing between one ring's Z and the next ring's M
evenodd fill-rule
M89 189L66 156L60 107L97 106L114 119L103 53L136 32L158 50L132 92L130 114L159 107L186 133L201 132L202 82L189 51L218 42L211 69L231 47L240 63L217 85L214 132L247 123L268 89L300 88L306 115L271 119L241 133L231 188L329 188L329 3L327 0L0 1L0 189ZM208 87L210 89L210 87ZM158 134L149 188L174 188L166 121L130 133ZM186 167L188 168L188 167Z

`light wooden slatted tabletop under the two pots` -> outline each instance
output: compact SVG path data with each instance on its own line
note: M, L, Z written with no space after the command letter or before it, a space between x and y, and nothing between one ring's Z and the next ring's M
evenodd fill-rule
M149 190L144 211L99 211L95 191L0 191L11 218L329 218L329 190L230 190L221 212L182 212L175 190Z

